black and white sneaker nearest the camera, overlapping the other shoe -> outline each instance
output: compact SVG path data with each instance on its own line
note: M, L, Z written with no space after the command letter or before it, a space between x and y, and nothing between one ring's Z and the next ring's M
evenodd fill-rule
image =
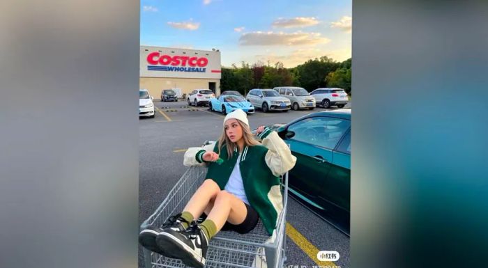
M193 224L185 232L165 230L156 237L156 243L165 253L180 259L185 265L203 268L208 249L208 238L200 226Z

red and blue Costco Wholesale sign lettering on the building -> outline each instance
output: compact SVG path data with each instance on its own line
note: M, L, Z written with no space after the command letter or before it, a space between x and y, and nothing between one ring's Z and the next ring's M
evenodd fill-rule
M161 55L159 52L151 52L147 55L147 70L169 72L206 72L208 58L190 56Z

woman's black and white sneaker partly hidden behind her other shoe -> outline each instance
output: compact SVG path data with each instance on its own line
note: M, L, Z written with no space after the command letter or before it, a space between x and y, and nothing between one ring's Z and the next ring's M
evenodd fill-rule
M144 246L146 249L153 251L155 253L159 253L161 255L165 255L169 258L175 258L169 253L166 253L164 249L161 249L158 244L156 244L156 237L160 232L165 230L174 230L175 232L183 232L185 228L183 227L182 222L187 222L185 219L181 218L181 213L176 214L174 216L170 216L169 219L162 224L162 228L155 228L154 226L150 226L139 233L139 243ZM188 223L190 225L190 223Z

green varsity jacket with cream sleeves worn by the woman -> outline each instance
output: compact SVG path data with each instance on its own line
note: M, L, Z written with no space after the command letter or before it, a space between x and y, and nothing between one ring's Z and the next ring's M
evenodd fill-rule
M288 145L280 136L269 128L257 137L261 139L262 145L245 146L239 165L247 200L259 214L268 234L273 235L277 217L283 209L279 176L295 166L296 157L291 155ZM203 148L188 148L183 164L207 166L206 179L214 180L223 190L236 165L238 153L234 153L228 159L224 144L220 150L220 158L224 159L224 162L219 165L204 161L202 156L208 150L218 152L217 142Z

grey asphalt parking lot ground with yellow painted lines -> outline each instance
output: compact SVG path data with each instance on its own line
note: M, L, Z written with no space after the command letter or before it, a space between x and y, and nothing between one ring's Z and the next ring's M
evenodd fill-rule
M222 133L222 113L207 107L188 107L183 101L154 100L155 118L139 120L139 223L142 223L183 175L183 154L186 148L201 146L204 141L218 139ZM346 105L351 107L350 104ZM256 113L248 116L252 129L260 125L288 123L308 113L325 111L288 111ZM349 237L330 226L293 198L287 207L287 263L292 266L337 265L349 267ZM317 251L337 251L336 262L317 261ZM139 267L143 267L139 249Z

